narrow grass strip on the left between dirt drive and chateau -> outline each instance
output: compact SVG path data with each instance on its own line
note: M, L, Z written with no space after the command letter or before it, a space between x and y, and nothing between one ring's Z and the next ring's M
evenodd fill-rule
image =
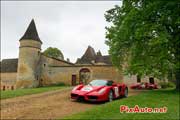
M39 88L28 88L28 89L1 91L1 99L7 99L7 98L13 98L13 97L17 97L17 96L43 93L43 92L58 90L58 89L62 89L62 88L66 88L66 86L48 86L48 87L39 87Z

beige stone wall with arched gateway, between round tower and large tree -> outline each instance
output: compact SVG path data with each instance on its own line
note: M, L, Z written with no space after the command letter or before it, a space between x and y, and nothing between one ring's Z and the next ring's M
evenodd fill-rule
M63 82L67 85L72 84L72 75L76 76L76 84L80 82L80 70L87 68L90 71L90 78L87 83L93 79L108 79L117 82L123 82L121 72L112 66L52 66L43 69L41 76L42 85L50 85Z

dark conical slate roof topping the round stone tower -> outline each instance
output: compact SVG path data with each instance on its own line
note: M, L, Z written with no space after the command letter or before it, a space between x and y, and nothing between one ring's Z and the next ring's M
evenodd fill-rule
M31 20L31 23L29 24L29 26L28 26L26 32L24 33L24 35L21 37L20 41L21 40L29 40L29 39L30 40L35 40L35 41L38 41L38 42L42 43L42 41L39 38L34 19Z

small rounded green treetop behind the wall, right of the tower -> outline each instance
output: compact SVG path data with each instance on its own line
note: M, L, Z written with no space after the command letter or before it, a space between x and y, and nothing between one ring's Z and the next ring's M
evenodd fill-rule
M49 57L54 57L54 58L64 60L64 56L58 48L49 47L43 53Z

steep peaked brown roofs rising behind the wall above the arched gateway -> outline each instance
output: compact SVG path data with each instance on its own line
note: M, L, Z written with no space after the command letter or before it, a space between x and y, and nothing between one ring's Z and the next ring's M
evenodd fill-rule
M86 52L81 58L78 58L76 64L96 64L96 63L105 63L107 65L112 65L109 55L102 56L101 52L98 51L95 53L94 48L88 46Z

